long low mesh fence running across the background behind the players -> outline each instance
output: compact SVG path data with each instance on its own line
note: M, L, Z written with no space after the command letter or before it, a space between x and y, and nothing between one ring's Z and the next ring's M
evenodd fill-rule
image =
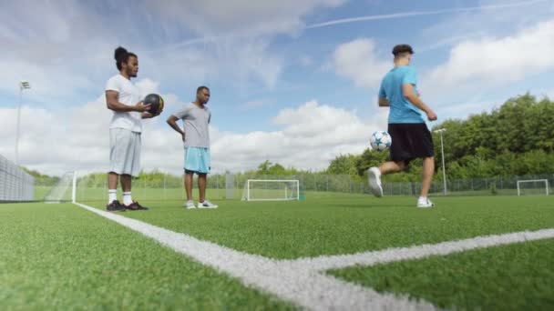
M246 174L214 174L208 177L208 197L210 199L241 199L244 185L248 179L298 179L301 196L310 197L313 192L349 193L369 195L367 181L356 176L323 175L318 173L297 176L267 176ZM447 196L517 196L518 180L547 179L549 192L552 192L554 174L539 176L502 176L492 178L472 178L467 180L449 180L446 183ZM42 185L40 182L38 185ZM525 184L525 195L546 195L545 183ZM41 186L37 186L37 189ZM67 197L70 197L67 189ZM383 182L385 196L418 196L421 182ZM44 186L36 193L48 191ZM80 176L77 178L77 201L107 200L107 178ZM156 180L139 178L133 180L133 198L139 200L182 200L185 197L182 176L165 175ZM431 196L443 196L442 180L432 183ZM196 180L193 196L198 198ZM44 195L43 195L44 197ZM37 199L42 199L37 197Z

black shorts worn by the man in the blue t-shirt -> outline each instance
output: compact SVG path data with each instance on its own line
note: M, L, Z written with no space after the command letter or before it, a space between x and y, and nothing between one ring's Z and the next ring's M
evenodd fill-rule
M408 165L415 158L435 156L433 137L425 123L389 124L388 134L393 139L391 161Z

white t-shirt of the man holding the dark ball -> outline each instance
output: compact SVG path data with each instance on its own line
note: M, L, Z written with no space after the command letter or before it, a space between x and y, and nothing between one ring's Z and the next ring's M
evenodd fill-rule
M106 84L107 91L118 92L118 101L125 105L136 105L140 101L139 88L123 75L114 75ZM142 132L142 118L138 111L114 111L109 128L124 128L132 132Z

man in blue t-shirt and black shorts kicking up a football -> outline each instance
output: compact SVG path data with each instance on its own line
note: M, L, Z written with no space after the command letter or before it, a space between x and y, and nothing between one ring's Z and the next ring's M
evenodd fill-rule
M368 170L369 186L374 196L383 196L381 175L395 173L408 166L411 160L423 158L423 180L417 207L432 207L427 198L435 174L433 138L427 129L421 111L429 121L436 114L420 98L417 91L415 69L410 66L414 50L410 45L393 48L395 67L383 78L379 89L379 106L390 107L388 133L393 139L391 160Z

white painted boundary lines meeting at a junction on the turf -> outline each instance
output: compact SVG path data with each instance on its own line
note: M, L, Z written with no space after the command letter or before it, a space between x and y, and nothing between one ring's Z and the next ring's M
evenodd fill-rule
M434 310L426 301L407 296L381 294L373 289L327 276L323 271L346 266L373 266L426 256L444 256L470 249L508 245L525 241L554 238L554 229L518 232L499 236L478 236L435 245L389 248L382 251L345 256L319 256L297 260L275 260L201 241L186 234L136 219L105 212L76 203L88 211L148 236L164 246L202 265L211 266L239 278L246 286L262 289L283 300L313 310Z

